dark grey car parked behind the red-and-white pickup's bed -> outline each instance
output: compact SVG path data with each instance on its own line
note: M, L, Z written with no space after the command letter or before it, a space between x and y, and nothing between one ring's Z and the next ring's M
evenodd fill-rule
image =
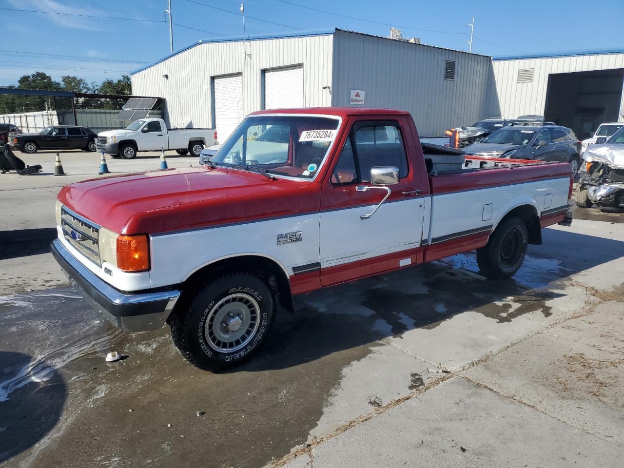
M468 154L489 158L514 158L569 162L574 175L580 163L581 142L567 127L504 127L464 148Z

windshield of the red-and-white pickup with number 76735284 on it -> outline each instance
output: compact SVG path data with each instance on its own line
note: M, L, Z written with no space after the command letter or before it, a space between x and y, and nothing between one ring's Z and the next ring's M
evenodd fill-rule
M212 161L255 166L275 175L311 179L338 133L336 117L258 115L230 135Z

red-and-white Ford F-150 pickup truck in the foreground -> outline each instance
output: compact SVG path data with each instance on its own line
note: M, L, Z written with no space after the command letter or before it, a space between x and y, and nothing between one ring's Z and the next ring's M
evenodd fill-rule
M190 363L223 369L293 295L474 249L511 276L541 228L572 222L568 163L433 159L407 112L255 112L207 165L64 187L52 253L105 318L168 323Z

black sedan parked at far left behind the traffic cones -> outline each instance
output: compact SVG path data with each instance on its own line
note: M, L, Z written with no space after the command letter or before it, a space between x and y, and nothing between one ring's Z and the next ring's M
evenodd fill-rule
M13 135L9 141L12 150L35 153L37 150L81 149L95 151L97 135L87 127L53 125L36 134Z

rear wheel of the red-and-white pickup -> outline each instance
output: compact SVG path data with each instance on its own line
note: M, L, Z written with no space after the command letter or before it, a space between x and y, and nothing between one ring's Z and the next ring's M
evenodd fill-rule
M477 250L482 275L500 280L515 275L527 255L529 233L520 218L500 223L485 247Z

